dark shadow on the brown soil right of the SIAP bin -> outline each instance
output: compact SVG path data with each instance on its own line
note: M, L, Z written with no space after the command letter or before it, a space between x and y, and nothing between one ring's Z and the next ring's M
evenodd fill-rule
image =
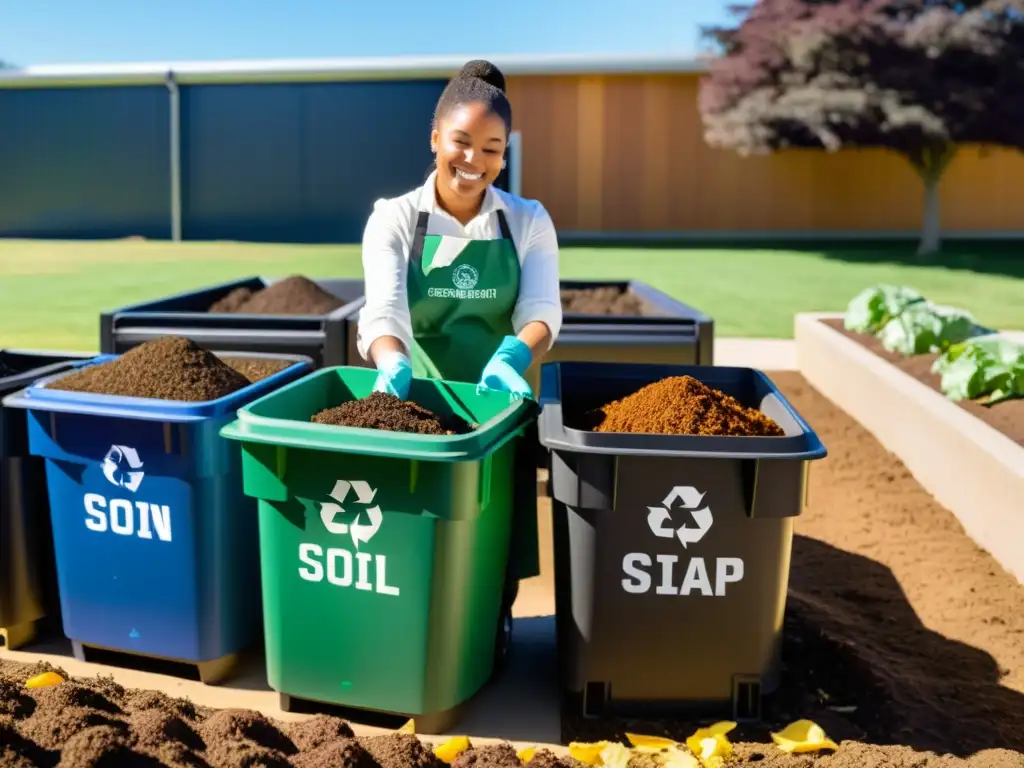
M922 625L892 571L869 558L796 537L782 656L782 685L765 699L763 722L741 725L732 740L770 743L772 730L808 718L837 741L962 757L1024 752L1024 694L1000 684L991 655ZM562 737L683 739L705 724L566 713Z

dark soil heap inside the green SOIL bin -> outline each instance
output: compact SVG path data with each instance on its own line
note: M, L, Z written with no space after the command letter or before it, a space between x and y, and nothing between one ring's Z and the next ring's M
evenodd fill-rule
M438 416L387 392L374 392L361 399L326 409L314 414L312 421L335 427L362 427L414 434L453 435L473 431L464 419L455 414Z

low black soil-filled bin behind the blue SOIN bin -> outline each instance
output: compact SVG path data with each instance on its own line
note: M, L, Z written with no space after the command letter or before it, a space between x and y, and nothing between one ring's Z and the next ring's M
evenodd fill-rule
M207 349L304 355L314 368L349 365L355 348L354 317L362 306L361 280L314 280L345 301L330 314L213 314L214 302L239 288L259 291L276 278L246 278L166 299L133 304L99 317L100 351L122 354L161 336L178 335Z

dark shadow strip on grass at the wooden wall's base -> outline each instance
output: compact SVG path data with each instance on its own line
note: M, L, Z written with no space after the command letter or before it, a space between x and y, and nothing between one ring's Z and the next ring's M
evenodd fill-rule
M891 240L858 241L664 241L643 240L598 241L567 239L563 245L595 250L638 248L643 250L700 250L700 251L788 251L823 256L836 261L856 264L903 264L909 266L939 267L942 269L1000 274L1024 279L1024 244L999 242L951 242L943 246L942 253L918 256L916 243Z

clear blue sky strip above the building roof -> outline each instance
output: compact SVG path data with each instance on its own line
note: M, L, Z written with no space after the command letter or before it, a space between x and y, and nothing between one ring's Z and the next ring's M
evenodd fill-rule
M0 0L15 65L416 53L692 53L728 0ZM544 10L542 10L544 9Z

